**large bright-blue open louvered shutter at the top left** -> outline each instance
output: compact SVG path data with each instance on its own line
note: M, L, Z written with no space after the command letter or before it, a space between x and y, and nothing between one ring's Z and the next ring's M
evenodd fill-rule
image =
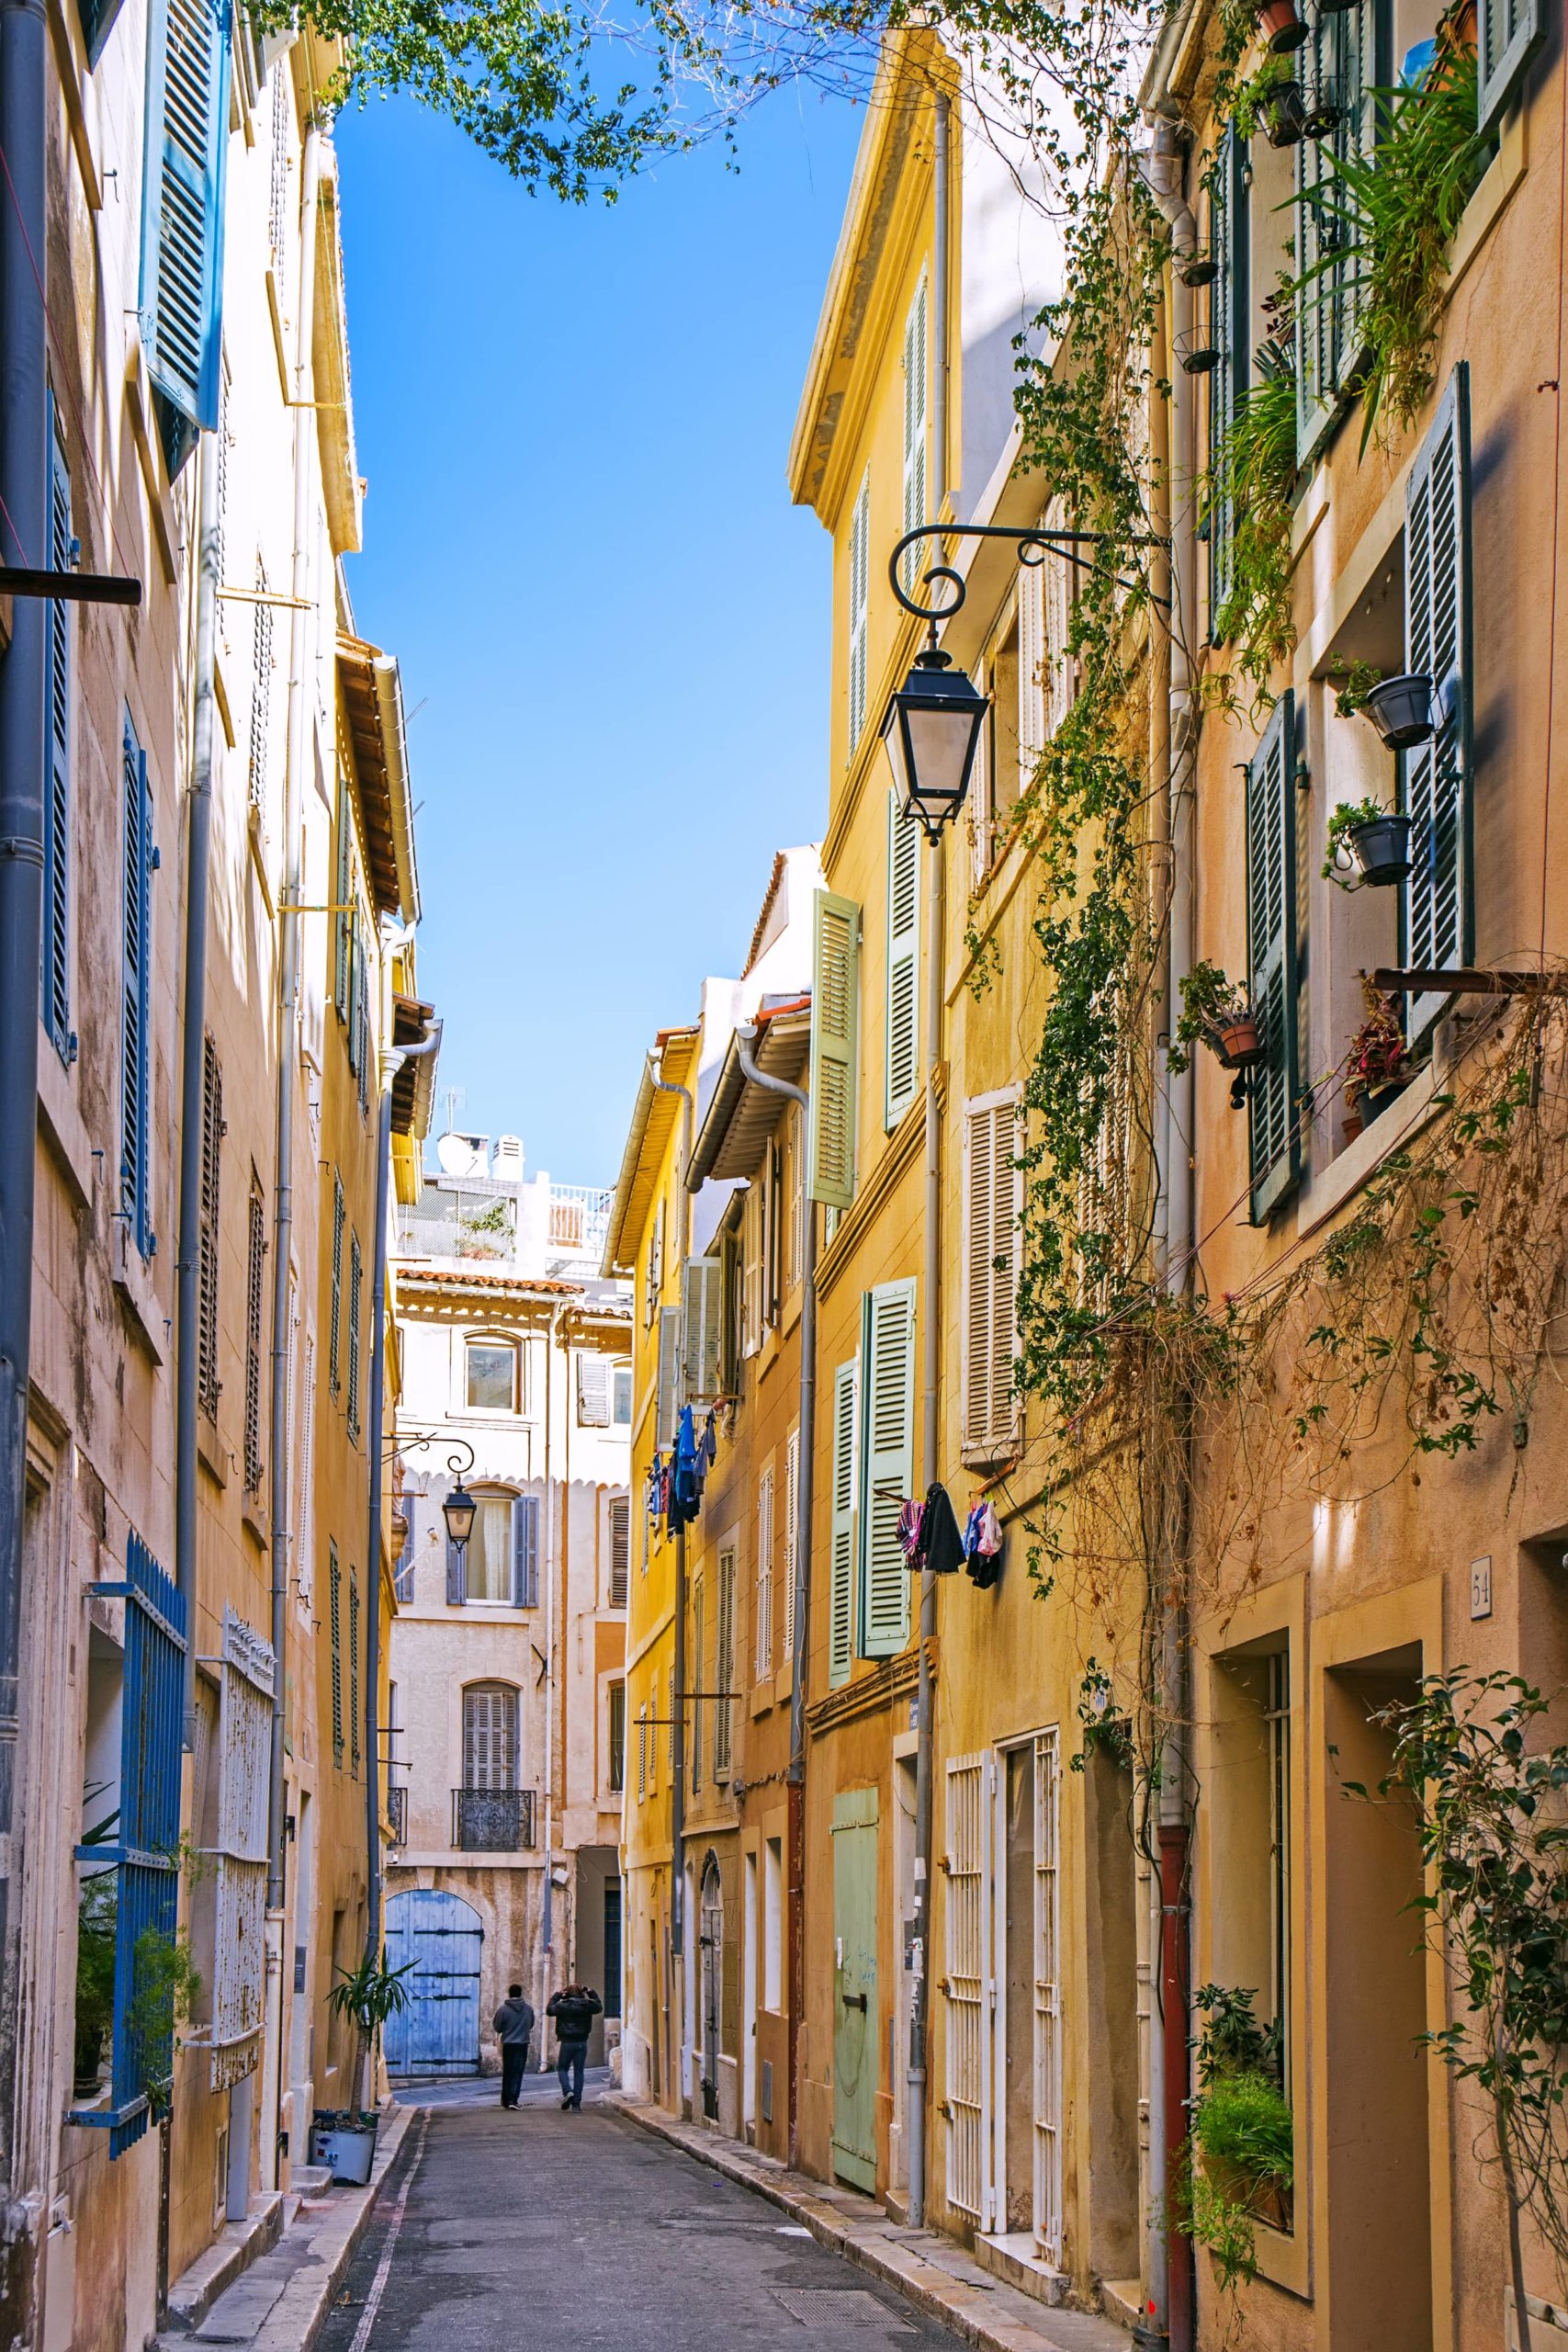
M155 0L148 38L141 339L172 412L165 447L176 473L195 428L219 421L228 7Z

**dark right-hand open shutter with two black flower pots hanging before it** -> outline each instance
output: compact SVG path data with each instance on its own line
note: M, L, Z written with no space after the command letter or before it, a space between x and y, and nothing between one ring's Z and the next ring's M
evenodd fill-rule
M1469 884L1469 367L1448 379L1406 487L1406 670L1443 713L1429 743L1401 755L1410 880L1401 891L1403 962L1446 971L1472 953ZM1410 1037L1436 1021L1441 990L1415 997Z

